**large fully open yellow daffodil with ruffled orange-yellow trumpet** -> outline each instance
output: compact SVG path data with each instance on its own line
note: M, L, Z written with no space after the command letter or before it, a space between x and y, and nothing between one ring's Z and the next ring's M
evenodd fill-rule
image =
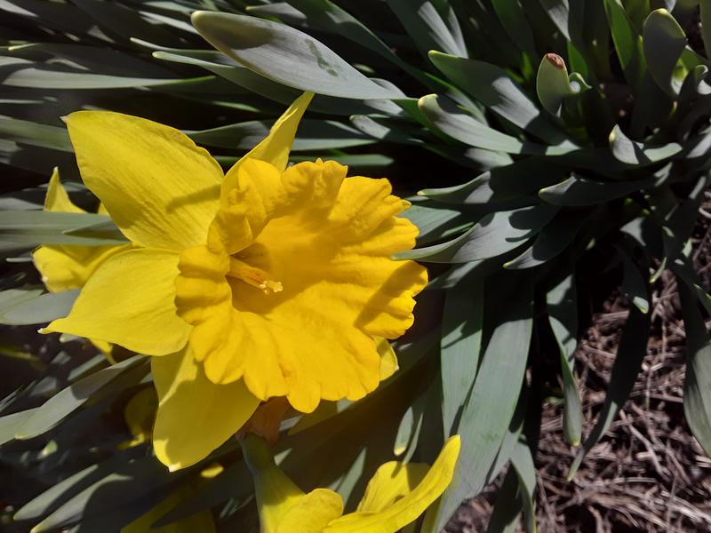
M410 327L427 283L417 263L390 259L418 230L397 216L409 204L387 179L346 178L332 161L286 168L311 97L227 175L168 126L101 111L66 119L84 183L132 248L44 332L154 356L154 448L172 469L207 456L271 397L309 412L371 392L378 338Z

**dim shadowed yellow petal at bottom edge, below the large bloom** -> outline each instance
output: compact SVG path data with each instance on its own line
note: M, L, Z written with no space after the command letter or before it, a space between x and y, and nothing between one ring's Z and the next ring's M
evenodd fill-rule
M195 494L196 490L188 484L174 489L171 495L166 497L160 504L122 528L121 533L214 533L215 522L212 520L212 513L209 509L191 514L161 528L151 528L166 513Z

